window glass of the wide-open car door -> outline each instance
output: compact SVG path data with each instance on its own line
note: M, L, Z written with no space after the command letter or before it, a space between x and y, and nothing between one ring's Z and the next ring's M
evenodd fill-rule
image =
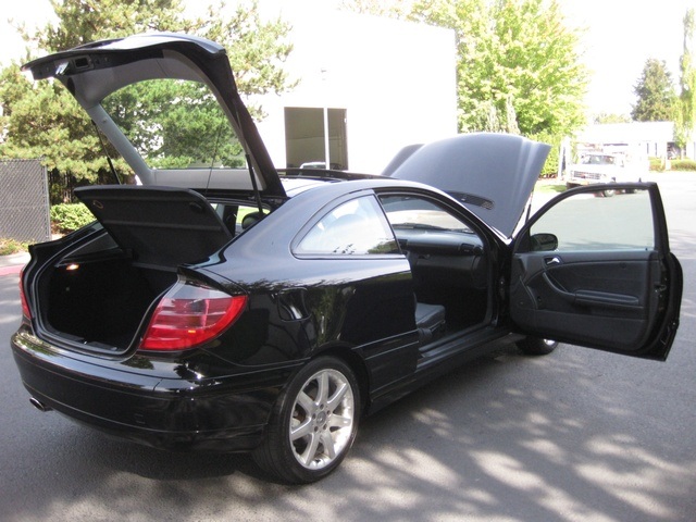
M531 250L652 250L650 195L598 189L560 201L530 229Z

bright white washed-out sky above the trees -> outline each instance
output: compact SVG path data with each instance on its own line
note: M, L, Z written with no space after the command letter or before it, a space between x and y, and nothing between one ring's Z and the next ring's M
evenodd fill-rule
M188 0L197 3L196 0ZM273 0L263 0L270 1ZM276 0L277 1L277 0ZM310 0L290 0L308 3ZM319 0L322 1L322 0ZM649 58L664 60L679 79L682 18L696 0L559 0L569 24L584 28L583 59L592 72L586 104L591 113L627 114L635 103L633 86ZM291 3L283 2L284 9ZM21 60L24 44L7 18L28 26L51 15L49 0L4 2L0 22L0 63Z

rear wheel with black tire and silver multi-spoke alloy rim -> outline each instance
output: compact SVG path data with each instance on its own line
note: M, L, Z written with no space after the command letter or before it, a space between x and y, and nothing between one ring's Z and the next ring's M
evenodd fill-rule
M358 433L360 389L340 359L314 359L290 381L271 412L257 464L287 484L308 484L334 471Z

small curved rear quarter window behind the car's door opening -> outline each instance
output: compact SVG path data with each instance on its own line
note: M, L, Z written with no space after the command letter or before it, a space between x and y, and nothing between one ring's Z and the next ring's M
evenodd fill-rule
M399 247L373 196L351 199L324 215L295 248L296 254L398 253Z

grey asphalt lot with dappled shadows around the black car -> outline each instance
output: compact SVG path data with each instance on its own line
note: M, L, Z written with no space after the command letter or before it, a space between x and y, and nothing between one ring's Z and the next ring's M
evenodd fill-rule
M245 456L157 451L33 409L8 341L18 276L3 272L0 519L693 521L696 174L652 178L685 278L667 362L567 345L482 359L366 419L339 470L303 487Z

